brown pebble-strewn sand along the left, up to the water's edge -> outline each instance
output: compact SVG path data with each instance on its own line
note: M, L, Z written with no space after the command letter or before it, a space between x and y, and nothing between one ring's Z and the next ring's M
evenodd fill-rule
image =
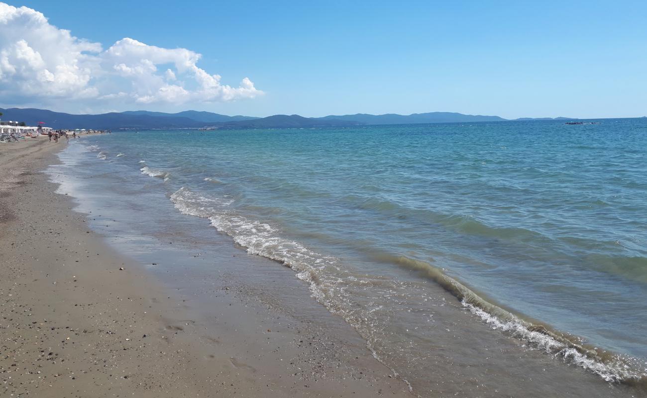
M366 349L313 349L289 321L272 333L270 309L223 294L214 311L226 322L200 322L54 193L43 170L64 146L0 144L1 396L410 396Z

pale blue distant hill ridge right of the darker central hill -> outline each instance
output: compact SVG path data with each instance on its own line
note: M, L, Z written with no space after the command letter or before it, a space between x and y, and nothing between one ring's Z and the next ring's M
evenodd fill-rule
M411 115L397 115L386 113L385 115L369 115L357 113L356 115L323 116L319 118L336 120L353 120L364 124L418 124L418 123L452 123L452 122L499 122L506 120L499 116L463 115L455 112L430 112L412 113Z

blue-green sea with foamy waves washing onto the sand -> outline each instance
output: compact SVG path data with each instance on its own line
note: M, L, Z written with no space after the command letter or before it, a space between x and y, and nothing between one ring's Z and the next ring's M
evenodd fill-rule
M179 250L291 269L416 395L647 394L647 118L113 131L59 156L117 245L204 228Z

